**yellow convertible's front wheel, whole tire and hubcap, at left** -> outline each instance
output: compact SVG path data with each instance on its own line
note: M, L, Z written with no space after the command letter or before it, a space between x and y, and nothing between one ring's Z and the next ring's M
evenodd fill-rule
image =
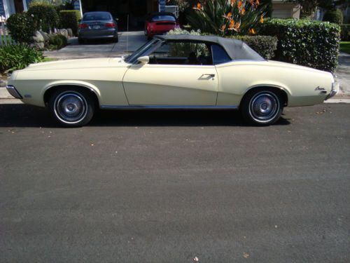
M57 90L50 97L49 107L55 119L66 127L81 127L94 116L94 101L85 90Z

